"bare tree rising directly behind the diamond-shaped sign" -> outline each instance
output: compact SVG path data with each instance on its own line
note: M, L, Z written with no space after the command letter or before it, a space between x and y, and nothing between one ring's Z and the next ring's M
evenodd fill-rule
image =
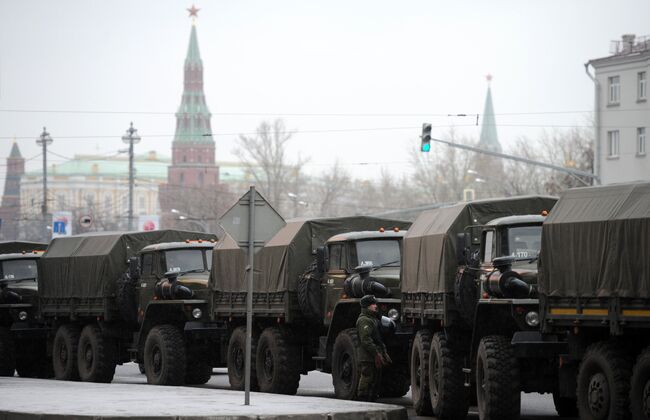
M300 191L289 191L302 185L301 171L309 159L298 157L289 163L286 157L287 142L293 136L281 119L273 123L263 121L257 127L255 136L240 135L234 153L260 186L262 194L276 208L287 203L289 192L299 195ZM286 206L285 206L286 207Z

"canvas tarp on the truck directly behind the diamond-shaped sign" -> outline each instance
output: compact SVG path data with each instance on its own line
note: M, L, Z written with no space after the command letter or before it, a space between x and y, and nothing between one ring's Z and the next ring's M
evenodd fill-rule
M254 289L256 292L295 291L298 277L316 258L316 249L336 234L377 231L382 227L407 229L409 225L409 222L367 216L290 220L255 254ZM230 236L218 243L212 254L212 290L246 291L247 255Z

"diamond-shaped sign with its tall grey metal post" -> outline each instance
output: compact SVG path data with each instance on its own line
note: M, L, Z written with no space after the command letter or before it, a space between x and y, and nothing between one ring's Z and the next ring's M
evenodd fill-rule
M244 221L248 220L248 223ZM255 253L286 223L282 216L262 197L255 186L244 194L219 221L221 227L237 244L248 249L246 293L246 367L244 378L244 404L250 405L251 390L251 341L253 330L253 274ZM243 222L243 223L242 223Z

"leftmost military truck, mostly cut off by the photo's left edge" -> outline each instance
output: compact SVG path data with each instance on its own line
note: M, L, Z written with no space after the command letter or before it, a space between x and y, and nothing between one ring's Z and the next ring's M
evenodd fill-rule
M50 377L47 330L36 319L40 242L0 242L0 376Z

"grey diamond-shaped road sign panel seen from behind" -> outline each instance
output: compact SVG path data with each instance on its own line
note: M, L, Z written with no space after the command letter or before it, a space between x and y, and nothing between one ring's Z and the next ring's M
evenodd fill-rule
M253 190L251 190L253 191ZM237 241L240 247L248 247L248 208L250 207L251 191L244 194L234 206L221 216L219 224ZM253 232L256 250L259 250L271 239L286 222L262 195L255 191L255 222Z

